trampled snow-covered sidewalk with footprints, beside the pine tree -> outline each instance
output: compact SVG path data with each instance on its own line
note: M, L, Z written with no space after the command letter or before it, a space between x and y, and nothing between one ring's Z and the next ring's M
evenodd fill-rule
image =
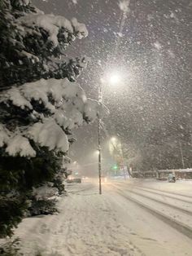
M26 218L15 236L20 236L24 255L142 255L125 227L118 223L107 196L89 183L73 184L59 202L60 213Z

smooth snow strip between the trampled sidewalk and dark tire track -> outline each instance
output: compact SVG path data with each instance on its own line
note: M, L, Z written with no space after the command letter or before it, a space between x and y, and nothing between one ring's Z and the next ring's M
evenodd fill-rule
M113 208L117 209L119 222L127 228L128 237L147 256L190 256L191 239L177 232L140 205L121 196L111 183L106 183L105 193Z

